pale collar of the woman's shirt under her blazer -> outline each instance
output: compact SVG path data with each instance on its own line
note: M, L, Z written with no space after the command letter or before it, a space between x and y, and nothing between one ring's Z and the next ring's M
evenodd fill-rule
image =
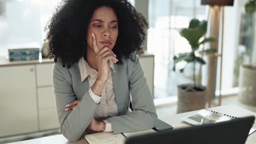
M115 69L114 69L114 63L113 61L109 61L109 67L111 69L113 69L114 73L115 73ZM90 65L85 61L84 57L80 58L78 61L78 67L79 67L79 71L80 71L80 76L81 76L81 82L84 81L86 79L86 77L88 77L89 75L91 75L91 71L93 71L94 69L92 69L90 67Z

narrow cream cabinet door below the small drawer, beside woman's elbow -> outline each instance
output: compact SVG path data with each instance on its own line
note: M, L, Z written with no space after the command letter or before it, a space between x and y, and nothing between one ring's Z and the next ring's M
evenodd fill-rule
M59 128L53 87L38 88L39 129Z

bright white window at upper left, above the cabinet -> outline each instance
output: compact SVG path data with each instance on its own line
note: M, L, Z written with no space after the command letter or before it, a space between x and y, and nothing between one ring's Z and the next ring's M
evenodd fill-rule
M8 49L39 46L45 37L44 27L60 0L0 0L0 56ZM4 9L3 9L4 8Z

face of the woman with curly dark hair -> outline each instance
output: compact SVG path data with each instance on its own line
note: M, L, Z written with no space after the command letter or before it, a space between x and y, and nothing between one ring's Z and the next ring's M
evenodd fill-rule
M113 49L118 37L118 19L113 9L101 7L92 15L87 33L87 50L89 51L94 51L92 33L95 34L98 49L102 50L106 46Z

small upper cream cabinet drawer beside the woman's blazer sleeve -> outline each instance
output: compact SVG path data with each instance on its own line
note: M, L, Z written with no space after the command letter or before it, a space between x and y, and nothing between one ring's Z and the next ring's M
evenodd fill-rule
M53 63L36 64L37 69L37 86L53 85Z

